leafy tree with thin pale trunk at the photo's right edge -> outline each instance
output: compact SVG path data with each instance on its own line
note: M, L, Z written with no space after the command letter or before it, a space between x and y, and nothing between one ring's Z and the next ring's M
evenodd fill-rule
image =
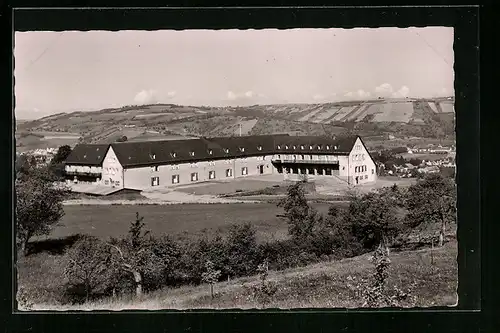
M410 186L407 197L407 223L411 228L439 225L439 246L443 246L446 227L456 221L456 184L440 174L428 174Z

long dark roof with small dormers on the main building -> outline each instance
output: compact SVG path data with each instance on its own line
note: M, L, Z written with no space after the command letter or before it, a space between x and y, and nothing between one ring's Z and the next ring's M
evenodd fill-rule
M270 155L280 152L295 152L300 154L301 152L312 153L314 151L316 153L345 155L349 154L352 150L356 138L357 136L332 139L329 137L288 136L280 134L191 140L120 142L99 146L111 146L122 166L139 167L262 154Z

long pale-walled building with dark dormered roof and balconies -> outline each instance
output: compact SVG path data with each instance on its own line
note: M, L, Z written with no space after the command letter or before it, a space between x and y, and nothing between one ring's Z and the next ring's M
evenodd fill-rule
M240 177L282 174L337 177L357 185L376 180L359 136L263 135L191 140L79 144L66 160L68 179L145 190Z

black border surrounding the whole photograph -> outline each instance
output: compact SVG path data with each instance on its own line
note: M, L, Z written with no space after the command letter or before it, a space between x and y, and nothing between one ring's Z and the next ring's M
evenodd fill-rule
M66 3L66 6L75 6ZM86 6L90 4L84 4ZM96 4L98 5L98 4ZM481 281L491 279L481 276L481 191L480 179L480 110L479 110L479 7L252 7L252 8L73 8L22 9L36 6L24 3L16 9L4 5L1 15L4 68L12 84L12 27L16 31L31 30L157 30L157 29L263 29L263 28L329 28L329 27L423 27L452 26L455 29L455 100L457 131L457 183L458 183L458 242L459 242L459 305L457 308L430 308L413 310L307 310L299 311L123 311L92 313L13 313L11 288L1 291L1 303L7 314L2 316L6 327L13 331L43 330L63 331L166 331L167 326L177 330L207 331L224 329L310 331L337 328L342 331L366 331L383 325L383 331L453 331L470 332L480 327L481 300L486 305L488 295L481 293ZM10 43L12 42L12 43ZM5 64L7 66L5 66ZM7 75L5 76L7 78ZM7 85L5 85L7 86ZM4 92L5 93L5 92ZM9 92L9 106L13 110L14 90ZM4 155L14 156L13 112L1 122ZM12 175L12 165L5 174ZM12 211L12 178L2 200L6 211ZM12 221L12 213L9 214ZM484 227L484 225L483 225ZM13 286L15 272L12 262L13 224L10 232L1 233L4 254L1 266L5 286ZM7 261L5 261L5 255ZM484 258L483 258L484 259ZM484 261L483 261L484 262ZM5 272L12 272L4 279ZM488 282L487 281L487 282ZM491 300L491 299L490 299ZM486 302L485 302L486 301ZM488 303L489 304L489 303ZM9 314L10 313L10 314ZM163 315L160 315L163 314ZM125 315L125 316L124 316ZM114 316L119 316L116 318Z

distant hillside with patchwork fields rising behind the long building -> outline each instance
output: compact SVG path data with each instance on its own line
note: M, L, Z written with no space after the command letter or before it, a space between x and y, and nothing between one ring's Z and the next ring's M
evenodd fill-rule
M364 136L394 134L445 138L454 136L454 112L452 97L248 107L154 104L59 113L18 122L16 139L22 146L39 146L43 144L37 142L36 137L38 141L43 140L41 132L102 143L116 141L122 136L128 140L158 140L231 136L240 132L243 135L356 132Z

